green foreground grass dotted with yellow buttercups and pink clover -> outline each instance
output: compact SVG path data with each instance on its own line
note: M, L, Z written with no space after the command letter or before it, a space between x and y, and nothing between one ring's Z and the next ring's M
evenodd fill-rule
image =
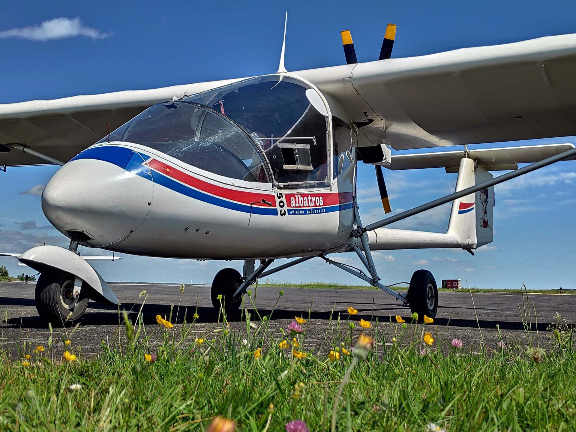
M44 352L25 344L20 358L1 357L0 429L203 431L220 415L238 430L283 431L290 420L304 419L311 431L329 431L335 408L339 431L425 431L428 423L451 432L576 430L576 355L562 323L554 331L557 349L543 358L518 344L491 351L480 341L457 351L436 340L422 354L423 332L437 338L433 325L372 323L363 331L376 340L374 349L342 384L354 358L342 348L351 350L358 324L331 321L324 344L312 351L311 324L304 324L295 336L308 356L298 359L278 347L292 335L268 331L268 322L253 328L249 318L224 321L200 335L203 343L187 344L198 331L194 320L145 328L139 315L135 325L126 320L119 328L123 338L103 342L101 354L73 362L63 352L75 353L81 341L68 332L63 339L72 342L65 345L51 332ZM386 340L384 329L396 340ZM340 358L329 361L336 347ZM151 351L158 356L153 363L144 357ZM25 354L28 365L21 364Z

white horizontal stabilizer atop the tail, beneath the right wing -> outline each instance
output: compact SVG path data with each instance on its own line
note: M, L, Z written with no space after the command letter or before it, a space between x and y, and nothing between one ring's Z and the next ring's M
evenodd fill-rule
M517 164L530 164L574 148L574 144L548 144L541 146L503 147L502 149L479 149L468 151L434 151L433 153L396 154L392 163L381 164L388 169L446 168L446 172L458 172L460 160L478 161L487 171L517 169ZM570 158L566 160L575 160ZM378 164L380 165L380 164Z

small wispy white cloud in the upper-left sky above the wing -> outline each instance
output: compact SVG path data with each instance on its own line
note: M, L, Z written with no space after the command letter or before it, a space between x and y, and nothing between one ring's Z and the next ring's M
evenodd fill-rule
M112 32L101 33L97 29L87 27L80 18L76 17L54 18L54 20L44 21L40 25L3 30L0 31L0 39L17 37L19 39L46 41L75 36L105 39L112 36L112 34Z

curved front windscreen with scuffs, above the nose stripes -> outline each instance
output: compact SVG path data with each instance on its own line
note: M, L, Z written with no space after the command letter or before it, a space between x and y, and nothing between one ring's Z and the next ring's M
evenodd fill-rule
M260 151L245 132L198 104L154 105L109 139L142 144L221 176L270 183Z

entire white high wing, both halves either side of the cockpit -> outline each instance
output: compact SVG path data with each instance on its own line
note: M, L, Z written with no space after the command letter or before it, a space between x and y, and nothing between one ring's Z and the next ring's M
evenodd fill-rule
M291 73L396 150L576 135L576 34ZM0 165L66 162L154 103L239 79L0 105Z

